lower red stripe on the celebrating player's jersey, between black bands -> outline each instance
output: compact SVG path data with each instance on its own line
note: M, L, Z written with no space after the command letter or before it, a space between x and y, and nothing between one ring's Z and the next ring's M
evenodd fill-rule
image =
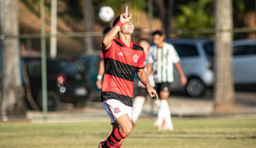
M111 91L133 97L133 82L105 74L101 91Z

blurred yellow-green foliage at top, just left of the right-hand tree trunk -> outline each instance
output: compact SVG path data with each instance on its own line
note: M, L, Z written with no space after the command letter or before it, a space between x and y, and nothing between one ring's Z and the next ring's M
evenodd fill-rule
M198 0L179 5L182 14L174 19L174 29L214 28L213 1Z

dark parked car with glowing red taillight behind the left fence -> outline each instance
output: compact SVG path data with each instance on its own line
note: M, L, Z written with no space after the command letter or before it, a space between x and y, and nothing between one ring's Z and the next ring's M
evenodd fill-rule
M41 58L22 58L30 80L34 101L42 109ZM47 59L48 111L57 110L61 102L71 102L75 107L85 106L91 88L87 85L87 71L79 61Z

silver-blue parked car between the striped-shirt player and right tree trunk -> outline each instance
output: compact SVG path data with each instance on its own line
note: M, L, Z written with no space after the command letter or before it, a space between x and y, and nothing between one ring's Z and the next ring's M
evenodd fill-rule
M202 96L207 87L214 83L213 74L213 43L210 39L168 39L172 44L188 82L186 86L180 83L180 75L174 69L172 90L185 90L190 96Z

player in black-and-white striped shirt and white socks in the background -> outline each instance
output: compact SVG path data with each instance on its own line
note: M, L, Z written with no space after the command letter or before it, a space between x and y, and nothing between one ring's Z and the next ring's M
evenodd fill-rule
M152 33L153 42L155 45L149 48L149 57L147 65L147 74L154 73L155 89L160 96L161 102L158 109L157 121L153 127L158 130L173 130L173 123L171 119L171 111L168 104L168 97L170 95L170 87L173 82L173 65L181 76L181 84L187 84L187 78L182 71L180 65L180 57L173 47L173 45L164 42L164 34L161 31ZM165 120L164 127L161 127L163 120Z

